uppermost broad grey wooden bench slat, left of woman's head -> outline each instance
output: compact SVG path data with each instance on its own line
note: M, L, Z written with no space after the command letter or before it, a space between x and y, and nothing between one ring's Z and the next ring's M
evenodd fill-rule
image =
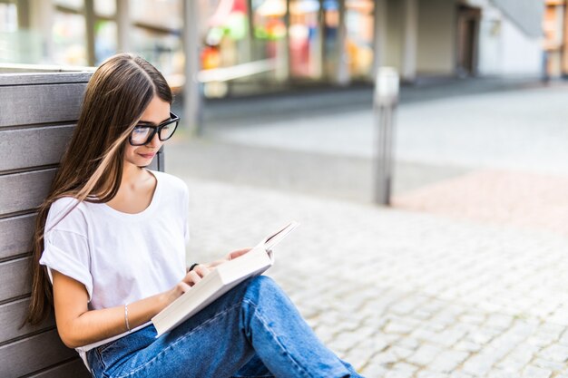
M0 127L76 121L85 84L0 86Z

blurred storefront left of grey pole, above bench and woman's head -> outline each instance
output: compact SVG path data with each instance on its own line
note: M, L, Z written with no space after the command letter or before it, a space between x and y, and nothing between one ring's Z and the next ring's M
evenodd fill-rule
M180 73L180 0L0 0L0 63L93 66L135 51Z

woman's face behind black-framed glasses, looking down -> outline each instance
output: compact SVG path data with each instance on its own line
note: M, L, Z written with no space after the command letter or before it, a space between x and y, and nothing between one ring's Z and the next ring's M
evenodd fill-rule
M140 121L152 123L154 126L159 125L163 121L170 119L170 103L164 102L160 97L154 96L146 110L142 113ZM143 146L132 146L126 141L124 149L124 162L131 163L137 167L146 167L150 165L154 156L162 147L163 141L158 138L156 133L152 141Z

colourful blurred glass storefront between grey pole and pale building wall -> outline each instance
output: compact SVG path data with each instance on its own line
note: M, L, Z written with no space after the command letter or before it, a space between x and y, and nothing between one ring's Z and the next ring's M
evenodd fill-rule
M208 18L201 67L242 68L242 76L230 82L236 92L266 91L267 84L275 90L290 85L371 82L374 3L210 1L207 8L216 11Z

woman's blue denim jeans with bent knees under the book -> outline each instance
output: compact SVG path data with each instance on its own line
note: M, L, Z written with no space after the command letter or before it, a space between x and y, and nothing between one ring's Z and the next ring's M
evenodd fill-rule
M250 278L156 338L153 325L90 350L93 376L360 377L267 276Z

